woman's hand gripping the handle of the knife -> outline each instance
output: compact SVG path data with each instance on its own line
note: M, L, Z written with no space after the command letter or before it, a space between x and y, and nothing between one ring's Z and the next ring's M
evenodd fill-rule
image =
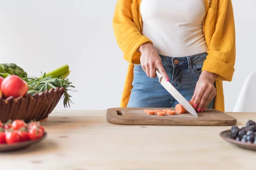
M151 43L145 43L140 46L138 51L141 53L140 64L148 77L156 77L156 69L169 82L169 77L163 68L161 58Z

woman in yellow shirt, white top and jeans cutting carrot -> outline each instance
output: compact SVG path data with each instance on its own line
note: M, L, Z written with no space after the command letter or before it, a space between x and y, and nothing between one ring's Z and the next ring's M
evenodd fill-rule
M158 69L198 112L224 111L236 57L231 0L118 0L113 28L130 63L121 107L175 107Z

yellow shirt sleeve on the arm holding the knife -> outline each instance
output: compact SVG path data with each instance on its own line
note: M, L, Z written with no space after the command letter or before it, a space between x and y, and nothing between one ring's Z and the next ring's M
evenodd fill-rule
M113 16L113 30L117 44L124 53L124 59L131 64L140 64L140 53L137 49L140 45L152 42L143 36L134 24L132 10L136 13L137 3L132 6L131 0L117 1Z

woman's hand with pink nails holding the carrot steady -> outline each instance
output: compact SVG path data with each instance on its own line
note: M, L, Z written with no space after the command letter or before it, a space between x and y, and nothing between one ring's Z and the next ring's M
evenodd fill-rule
M198 112L204 111L216 95L215 82L216 74L208 71L202 71L198 82L196 83L195 92L191 100L195 100L194 107Z

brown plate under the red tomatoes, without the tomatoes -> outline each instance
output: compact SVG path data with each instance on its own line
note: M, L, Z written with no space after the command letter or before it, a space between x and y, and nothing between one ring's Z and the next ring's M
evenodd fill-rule
M32 144L41 142L46 136L47 136L47 133L45 132L44 135L40 139L36 139L36 140L32 140L32 141L29 140L26 142L19 142L19 143L14 143L14 144L0 144L0 152L9 152L9 151L25 149L27 147L30 147Z

